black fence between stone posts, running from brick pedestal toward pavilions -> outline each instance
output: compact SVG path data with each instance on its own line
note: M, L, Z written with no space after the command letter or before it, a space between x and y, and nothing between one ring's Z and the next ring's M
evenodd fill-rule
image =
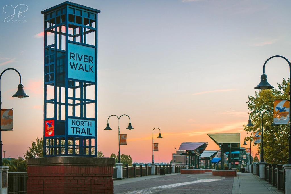
M129 166L128 164L125 164L125 167L123 167L123 178L128 179L132 177L143 177L143 176L149 176L152 175L152 168L155 169L155 174L160 174L160 169L163 169L165 174L173 173L173 167L171 165L155 165L154 167L149 166L146 164L145 166L139 165L137 166L134 164L133 166ZM181 172L181 169L185 169L186 166L176 165L175 166L175 173ZM117 168L113 168L113 179L117 178Z

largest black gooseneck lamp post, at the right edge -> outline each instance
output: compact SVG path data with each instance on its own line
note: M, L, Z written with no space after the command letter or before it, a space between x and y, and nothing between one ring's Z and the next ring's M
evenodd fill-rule
M261 75L261 82L259 83L259 85L257 87L255 87L255 89L258 89L258 90L267 90L267 89L274 88L267 81L267 75L265 74L265 65L266 65L266 63L271 58L275 58L275 57L280 57L280 58L283 58L283 59L285 59L287 61L288 65L289 65L289 79L291 79L291 64L290 64L290 61L287 58L283 57L283 56L275 55L275 56L272 56L272 57L268 58L265 61L264 66L263 66L263 74ZM291 91L291 84L290 84L290 81L289 81L289 107L290 107L290 91ZM289 110L289 118L291 118L290 110ZM289 138L288 138L288 144L289 144L288 164L291 164L291 125L290 125L290 122L289 122Z

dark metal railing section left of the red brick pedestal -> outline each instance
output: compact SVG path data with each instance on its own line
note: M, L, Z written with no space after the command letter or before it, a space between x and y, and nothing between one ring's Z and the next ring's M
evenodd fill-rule
M7 190L8 194L27 193L27 172L8 172Z

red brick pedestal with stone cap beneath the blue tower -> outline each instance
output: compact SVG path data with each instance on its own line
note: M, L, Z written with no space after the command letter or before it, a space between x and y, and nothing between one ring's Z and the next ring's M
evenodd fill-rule
M28 194L113 194L114 158L57 156L26 159Z

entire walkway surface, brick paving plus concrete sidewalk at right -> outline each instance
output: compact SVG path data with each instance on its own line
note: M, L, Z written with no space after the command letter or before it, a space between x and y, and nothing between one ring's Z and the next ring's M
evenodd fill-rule
M211 172L180 173L114 180L114 193L122 194L283 194L251 173L237 177L217 177Z

